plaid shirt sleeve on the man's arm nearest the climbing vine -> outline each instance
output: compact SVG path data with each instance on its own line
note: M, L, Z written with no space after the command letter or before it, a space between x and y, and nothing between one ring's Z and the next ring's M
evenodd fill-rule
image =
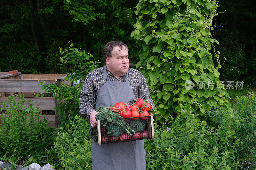
M152 98L150 96L150 93L149 93L146 78L142 74L141 74L141 83L140 83L140 86L139 86L138 94L139 94L139 98L142 98L143 100L148 100L148 103L150 104L150 106L152 108L155 108L155 105L154 105L153 100L152 100Z

